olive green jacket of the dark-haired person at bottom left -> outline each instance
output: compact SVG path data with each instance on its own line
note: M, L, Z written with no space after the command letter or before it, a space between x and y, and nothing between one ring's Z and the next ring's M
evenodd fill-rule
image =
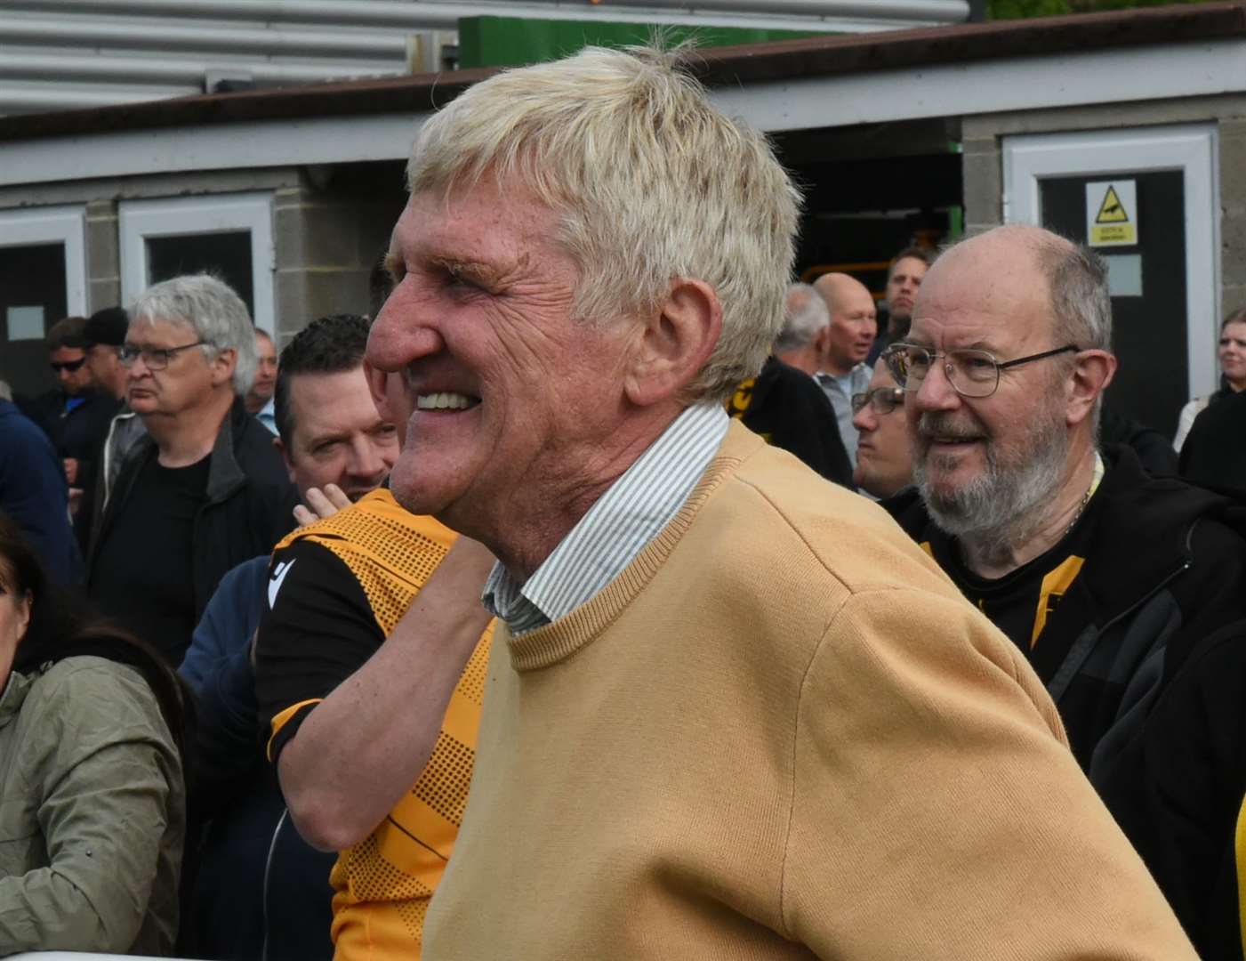
M186 833L177 748L133 668L70 657L0 693L0 955L167 954Z

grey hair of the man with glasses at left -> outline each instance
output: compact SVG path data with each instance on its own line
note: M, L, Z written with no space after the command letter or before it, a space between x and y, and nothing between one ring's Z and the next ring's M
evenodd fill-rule
M203 342L204 356L234 351L233 388L239 396L255 378L255 327L247 304L212 274L186 274L152 284L130 307L131 323L184 324Z

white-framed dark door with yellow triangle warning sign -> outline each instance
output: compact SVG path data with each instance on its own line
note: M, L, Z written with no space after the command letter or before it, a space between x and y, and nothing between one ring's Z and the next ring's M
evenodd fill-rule
M1111 244L1096 248L1111 273L1120 359L1105 403L1169 436L1181 405L1216 384L1216 156L1214 123L1003 138L1006 222ZM1120 188L1110 198L1106 183ZM1130 192L1135 232L1099 229L1121 217L1115 203Z

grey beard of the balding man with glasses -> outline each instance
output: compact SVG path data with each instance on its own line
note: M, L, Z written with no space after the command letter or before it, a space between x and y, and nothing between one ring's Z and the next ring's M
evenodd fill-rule
M930 418L930 420L927 420ZM937 425L937 415L923 414L920 430ZM958 538L973 557L1002 565L1043 526L1044 507L1064 481L1069 435L1063 420L1044 416L1025 440L1030 456L1019 462L1001 460L994 442L986 442L986 470L951 491L931 489L926 471L930 442L918 441L913 480L931 519L944 533ZM922 450L922 446L926 450Z

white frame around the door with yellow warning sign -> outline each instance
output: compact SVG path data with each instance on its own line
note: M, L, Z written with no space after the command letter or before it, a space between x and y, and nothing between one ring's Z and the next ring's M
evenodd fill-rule
M1216 389L1221 309L1219 143L1215 123L1003 138L1006 223L1042 224L1039 182L1047 178L1174 170L1185 175L1186 350L1192 396Z

